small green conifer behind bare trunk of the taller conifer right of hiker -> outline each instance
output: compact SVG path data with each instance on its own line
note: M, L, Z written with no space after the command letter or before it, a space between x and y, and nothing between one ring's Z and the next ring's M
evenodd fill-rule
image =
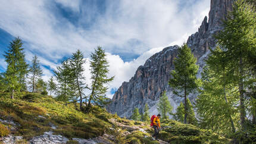
M197 120L195 118L195 112L193 111L193 106L191 104L191 101L189 101L189 99L187 99L187 104L188 104L187 124L196 125L197 124ZM175 114L171 114L171 115L173 115L173 118L176 121L180 121L181 123L184 121L185 111L184 111L183 102L180 102L179 107L177 107L177 109L176 109L176 113Z

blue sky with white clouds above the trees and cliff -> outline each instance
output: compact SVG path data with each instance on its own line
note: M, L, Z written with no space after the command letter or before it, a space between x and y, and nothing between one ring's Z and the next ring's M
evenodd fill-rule
M115 76L107 93L112 98L139 65L171 45L182 45L208 16L210 0L1 0L0 72L3 54L15 37L23 40L26 61L39 57L43 80L54 76L61 61L80 49L90 84L90 54L105 49Z

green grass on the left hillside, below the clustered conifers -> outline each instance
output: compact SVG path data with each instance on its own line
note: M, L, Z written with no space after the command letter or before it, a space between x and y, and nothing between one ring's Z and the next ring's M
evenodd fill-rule
M26 139L49 130L68 138L88 139L100 136L111 126L108 118L112 115L104 109L95 109L98 111L95 114L84 114L74 109L73 105L65 106L51 96L37 93L24 93L18 99L7 96L0 98L0 117L20 124L13 134ZM40 118L39 115L45 118ZM51 129L51 123L57 126L56 130Z

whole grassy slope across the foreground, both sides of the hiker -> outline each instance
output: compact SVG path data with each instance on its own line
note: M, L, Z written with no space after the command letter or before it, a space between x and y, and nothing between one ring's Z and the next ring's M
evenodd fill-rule
M97 112L84 114L76 111L74 105L66 107L63 102L57 102L51 96L32 93L23 93L20 98L14 100L5 96L0 98L0 118L19 124L16 126L16 130L10 132L17 136L23 136L27 140L51 130L55 134L61 134L69 139L73 137L88 139L107 133L115 137L113 143L158 143L150 137L153 130L150 129L148 123L126 120L109 114L105 109L96 107L94 109ZM39 117L39 115L45 118ZM51 124L57 126L57 129L52 129ZM138 129L127 130L120 124L138 127L148 133L142 133ZM1 126L3 124L0 123ZM166 121L163 126L166 126L166 129L160 133L160 138L170 143L226 143L228 141L207 130L200 130L195 126L181 124L173 120ZM5 127L11 129L12 126L5 124ZM129 133L124 136L124 133L127 132Z

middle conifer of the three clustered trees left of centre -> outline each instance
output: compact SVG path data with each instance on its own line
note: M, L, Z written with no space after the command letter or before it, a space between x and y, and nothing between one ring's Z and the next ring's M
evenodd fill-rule
M85 77L83 76L83 72L85 68L83 68L83 64L85 64L85 60L83 54L80 50L77 50L70 59L71 64L71 76L73 76L73 87L74 87L74 95L78 95L80 98L80 110L83 110L82 100L83 100L83 90L85 89Z

